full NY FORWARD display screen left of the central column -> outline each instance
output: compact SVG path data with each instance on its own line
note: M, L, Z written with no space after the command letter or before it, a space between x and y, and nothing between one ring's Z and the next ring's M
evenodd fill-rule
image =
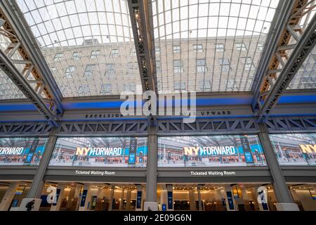
M50 166L146 167L146 137L58 138Z

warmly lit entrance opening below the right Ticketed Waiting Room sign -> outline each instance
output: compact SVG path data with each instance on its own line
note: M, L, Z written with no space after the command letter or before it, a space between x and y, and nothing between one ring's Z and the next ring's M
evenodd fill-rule
M157 194L159 210L276 210L271 184L159 184Z

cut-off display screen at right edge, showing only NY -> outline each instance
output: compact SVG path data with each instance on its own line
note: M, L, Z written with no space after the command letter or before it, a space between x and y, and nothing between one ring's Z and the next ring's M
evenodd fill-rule
M316 165L316 134L270 134L280 165Z

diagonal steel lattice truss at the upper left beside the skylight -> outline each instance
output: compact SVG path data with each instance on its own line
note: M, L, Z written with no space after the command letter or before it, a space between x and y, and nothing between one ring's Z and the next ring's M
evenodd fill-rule
M0 1L0 6L0 19L5 21L0 34L11 41L4 51L0 50L1 69L29 101L36 105L46 120L57 125L56 120L59 120L63 113L62 96L51 71L43 62L43 56L34 49L37 43L27 29L26 22L18 15L22 15L18 6L6 0ZM12 59L17 53L21 60ZM23 66L22 71L15 66L17 64Z

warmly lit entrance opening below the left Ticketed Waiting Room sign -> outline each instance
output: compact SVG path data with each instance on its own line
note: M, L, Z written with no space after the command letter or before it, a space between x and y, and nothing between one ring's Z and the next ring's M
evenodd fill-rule
M55 191L56 190L56 191ZM53 193L55 191L56 195ZM143 209L143 184L47 181L41 211L135 211ZM53 199L52 196L57 196Z

